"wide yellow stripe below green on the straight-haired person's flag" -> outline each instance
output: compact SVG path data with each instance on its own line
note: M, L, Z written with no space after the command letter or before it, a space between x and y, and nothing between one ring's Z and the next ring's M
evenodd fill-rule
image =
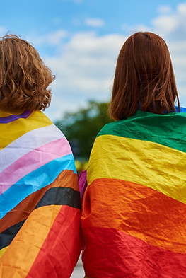
M128 180L186 204L185 161L185 153L161 144L103 135L91 152L88 185L97 178Z

